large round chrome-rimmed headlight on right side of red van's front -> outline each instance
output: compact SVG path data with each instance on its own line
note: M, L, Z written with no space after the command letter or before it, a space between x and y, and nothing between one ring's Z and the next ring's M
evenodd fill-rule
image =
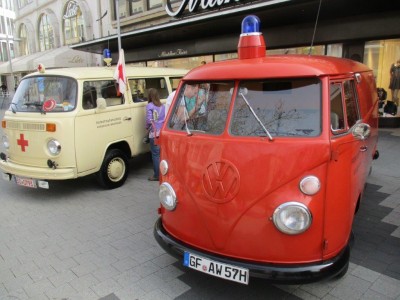
M304 204L287 202L275 209L273 221L279 231L286 234L299 234L310 227L312 216Z

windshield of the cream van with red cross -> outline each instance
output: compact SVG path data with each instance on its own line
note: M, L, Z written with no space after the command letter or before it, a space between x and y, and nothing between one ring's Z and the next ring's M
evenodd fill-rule
M13 112L68 112L75 109L77 83L59 76L23 79L10 105Z

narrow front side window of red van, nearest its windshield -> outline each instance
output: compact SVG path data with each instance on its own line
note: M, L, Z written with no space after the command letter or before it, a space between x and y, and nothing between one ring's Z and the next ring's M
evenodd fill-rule
M333 132L339 133L344 130L344 110L342 102L342 84L331 83L330 85L331 100L331 129Z

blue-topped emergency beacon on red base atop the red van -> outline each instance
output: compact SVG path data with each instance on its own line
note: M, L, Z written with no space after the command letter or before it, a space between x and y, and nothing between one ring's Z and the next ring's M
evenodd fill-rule
M264 37L260 32L260 24L260 19L254 15L243 19L242 33L238 44L239 59L265 57L266 47Z

